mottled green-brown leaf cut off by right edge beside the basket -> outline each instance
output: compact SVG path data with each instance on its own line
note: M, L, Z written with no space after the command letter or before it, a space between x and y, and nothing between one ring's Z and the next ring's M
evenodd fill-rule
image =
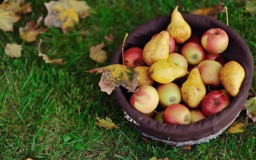
M243 109L246 109L246 114L253 120L253 122L256 122L256 97L248 99Z

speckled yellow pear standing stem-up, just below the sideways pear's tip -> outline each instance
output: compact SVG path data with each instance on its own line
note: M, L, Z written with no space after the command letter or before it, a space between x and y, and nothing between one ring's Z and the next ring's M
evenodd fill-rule
M182 100L191 108L199 106L206 95L206 88L200 76L199 69L193 68L188 79L181 86Z

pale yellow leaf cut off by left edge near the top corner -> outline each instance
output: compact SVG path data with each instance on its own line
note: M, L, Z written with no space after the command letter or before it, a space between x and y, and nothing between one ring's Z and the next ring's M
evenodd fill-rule
M0 6L0 29L13 31L13 24L21 19L13 11L6 11Z

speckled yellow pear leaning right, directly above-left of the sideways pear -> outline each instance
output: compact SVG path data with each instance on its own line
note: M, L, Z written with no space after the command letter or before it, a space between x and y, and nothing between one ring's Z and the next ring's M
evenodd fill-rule
M167 31L160 32L156 38L150 40L143 49L143 61L151 66L158 60L166 60L169 57L170 36Z

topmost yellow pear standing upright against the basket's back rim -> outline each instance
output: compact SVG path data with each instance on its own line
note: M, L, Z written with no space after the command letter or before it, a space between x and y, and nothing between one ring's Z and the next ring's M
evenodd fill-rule
M172 13L171 23L167 30L177 44L182 44L190 38L191 28L178 11L178 7L176 6Z

